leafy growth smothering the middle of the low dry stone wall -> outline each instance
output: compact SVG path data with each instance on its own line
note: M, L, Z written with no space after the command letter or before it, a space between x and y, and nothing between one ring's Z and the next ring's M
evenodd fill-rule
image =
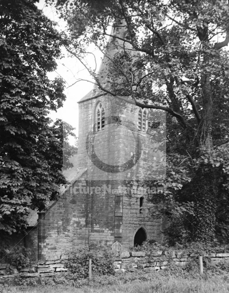
M89 274L89 259L92 259L92 272L95 275L114 274L114 255L110 251L89 250L83 248L68 254L66 268L76 278L86 278Z

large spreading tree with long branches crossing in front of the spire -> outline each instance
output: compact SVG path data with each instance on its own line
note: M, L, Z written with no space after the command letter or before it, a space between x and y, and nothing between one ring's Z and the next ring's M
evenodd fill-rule
M69 26L63 33L66 49L101 91L131 96L142 108L168 114L168 175L160 184L167 187L170 207L182 202L181 188L186 202L193 202L189 218L184 215L192 223L190 237L213 240L218 192L228 188L228 1L61 0L56 5ZM110 33L114 21L121 34ZM108 36L123 50L107 56L104 77L85 56L90 44L105 52Z

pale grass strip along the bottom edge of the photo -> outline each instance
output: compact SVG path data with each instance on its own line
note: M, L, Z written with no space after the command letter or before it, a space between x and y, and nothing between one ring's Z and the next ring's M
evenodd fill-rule
M165 277L141 281L129 280L124 283L119 278L113 279L113 284L101 285L96 280L85 281L80 288L66 285L7 285L0 289L1 293L228 293L229 283L220 276L207 279L186 279L182 277Z

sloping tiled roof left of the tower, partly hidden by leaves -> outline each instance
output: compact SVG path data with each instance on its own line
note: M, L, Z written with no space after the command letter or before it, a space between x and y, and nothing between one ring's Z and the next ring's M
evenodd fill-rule
M72 156L69 161L73 164L73 167L72 168L69 168L67 170L64 170L63 171L63 174L66 178L66 180L71 183L74 178L77 178L77 174L79 176L82 175L82 169L78 169L77 168L77 154ZM60 192L60 195L62 195L66 190L66 185L61 185L59 186L59 192ZM46 207L52 205L54 203L54 201L52 202L47 202L47 205ZM28 222L28 227L33 227L37 224L37 220L38 220L38 214L37 214L37 211L33 210L33 209L28 209L28 212L29 212L29 215L28 215L28 218L27 218L27 222Z

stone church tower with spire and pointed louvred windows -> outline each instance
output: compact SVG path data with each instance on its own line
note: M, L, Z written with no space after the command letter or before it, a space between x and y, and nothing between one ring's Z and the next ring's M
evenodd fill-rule
M124 33L124 26L112 32ZM98 74L103 86L109 84L108 61L123 47L110 37ZM148 209L149 188L139 188L161 160L147 138L148 111L97 87L78 105L78 154L70 159L74 167L64 171L69 185L39 213L29 234L36 258L57 259L71 249L111 247L116 241L124 248L146 239L160 242L162 223Z

